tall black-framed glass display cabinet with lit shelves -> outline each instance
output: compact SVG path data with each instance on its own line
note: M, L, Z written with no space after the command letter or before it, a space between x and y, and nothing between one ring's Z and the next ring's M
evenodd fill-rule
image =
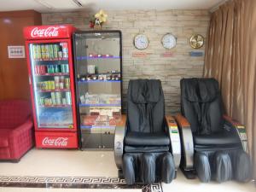
M121 117L121 32L75 32L73 45L80 148L111 149Z

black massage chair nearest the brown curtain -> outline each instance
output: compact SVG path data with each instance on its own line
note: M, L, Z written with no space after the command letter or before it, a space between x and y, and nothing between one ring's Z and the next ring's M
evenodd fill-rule
M251 178L243 125L224 115L215 79L182 79L181 112L175 119L182 143L181 169L202 182Z

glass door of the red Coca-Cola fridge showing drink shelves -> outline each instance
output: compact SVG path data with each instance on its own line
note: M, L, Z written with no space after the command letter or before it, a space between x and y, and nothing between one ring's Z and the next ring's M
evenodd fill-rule
M73 128L67 42L29 44L38 128Z

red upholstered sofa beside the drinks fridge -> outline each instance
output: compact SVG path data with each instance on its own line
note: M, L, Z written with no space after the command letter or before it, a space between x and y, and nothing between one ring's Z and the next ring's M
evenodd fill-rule
M19 161L33 145L30 103L25 100L0 101L0 160Z

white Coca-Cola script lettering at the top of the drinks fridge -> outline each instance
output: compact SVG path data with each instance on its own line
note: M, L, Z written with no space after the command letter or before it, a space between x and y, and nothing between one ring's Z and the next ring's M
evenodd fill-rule
M38 29L38 27L35 27L32 29L31 37L32 38L49 38L49 37L57 37L59 34L58 31L59 27L57 26L49 26L46 29Z

